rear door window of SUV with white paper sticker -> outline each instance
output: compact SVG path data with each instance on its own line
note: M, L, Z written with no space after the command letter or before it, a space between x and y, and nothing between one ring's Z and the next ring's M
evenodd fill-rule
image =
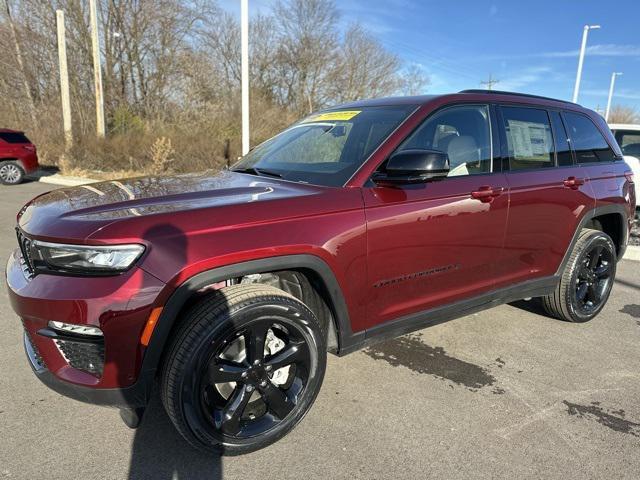
M501 110L509 150L509 169L555 166L547 111L527 107L502 107Z

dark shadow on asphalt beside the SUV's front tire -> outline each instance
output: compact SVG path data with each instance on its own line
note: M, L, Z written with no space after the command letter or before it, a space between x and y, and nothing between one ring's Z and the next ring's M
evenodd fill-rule
M155 392L136 429L128 478L218 480L222 479L222 459L189 445L171 423Z

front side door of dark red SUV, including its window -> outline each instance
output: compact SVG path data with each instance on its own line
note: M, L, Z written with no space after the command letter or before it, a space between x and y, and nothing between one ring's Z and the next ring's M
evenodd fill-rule
M363 189L366 328L493 288L509 201L499 162L493 162L489 112L487 105L439 110L398 147L447 153L447 178Z

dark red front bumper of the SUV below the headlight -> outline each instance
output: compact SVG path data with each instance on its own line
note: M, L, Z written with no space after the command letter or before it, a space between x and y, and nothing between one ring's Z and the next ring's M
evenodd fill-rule
M112 277L28 278L18 250L9 258L6 276L11 305L25 329L27 356L43 383L101 405L132 406L146 400L147 387L141 385L153 372L141 372L145 348L140 335L164 283L139 268ZM100 328L103 368L74 368L78 363L69 361L59 339L45 334L51 320Z

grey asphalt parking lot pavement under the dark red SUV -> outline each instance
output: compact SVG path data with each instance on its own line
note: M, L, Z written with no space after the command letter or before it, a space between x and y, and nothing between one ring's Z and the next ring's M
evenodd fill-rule
M53 188L0 187L0 261L15 214ZM4 278L3 278L4 282ZM6 286L3 286L3 290ZM307 417L242 457L192 450L158 401L129 430L32 375L0 295L0 478L629 478L640 472L640 263L593 322L520 302L330 357Z

